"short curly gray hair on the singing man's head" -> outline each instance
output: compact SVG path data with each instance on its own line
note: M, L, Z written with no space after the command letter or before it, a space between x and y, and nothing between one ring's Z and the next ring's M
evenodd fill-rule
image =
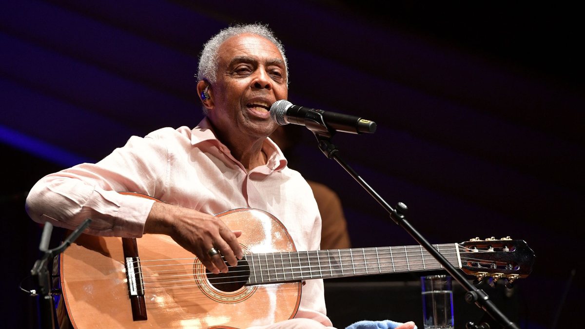
M284 47L280 40L274 36L274 33L268 28L267 25L262 25L259 23L249 24L249 25L236 25L230 26L229 28L225 28L219 31L218 34L211 37L203 46L203 50L201 51L201 56L199 56L199 67L197 72L197 78L199 81L207 80L210 84L215 84L216 81L216 73L218 69L218 50L219 46L222 45L225 40L228 40L232 36L242 35L244 33L251 33L254 35L259 35L264 39L269 40L270 42L274 43L274 46L278 48L280 55L283 56L284 60L284 68L287 71L287 84L288 84L288 62L287 57L284 56Z

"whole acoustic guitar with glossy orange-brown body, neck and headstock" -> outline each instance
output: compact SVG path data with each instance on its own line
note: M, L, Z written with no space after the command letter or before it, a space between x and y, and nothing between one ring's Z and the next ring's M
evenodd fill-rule
M218 217L244 234L245 256L219 275L166 235L81 235L60 258L63 300L76 328L247 328L294 317L304 280L441 269L421 246L297 251L287 229L261 210ZM433 245L479 278L529 275L524 241L472 239Z

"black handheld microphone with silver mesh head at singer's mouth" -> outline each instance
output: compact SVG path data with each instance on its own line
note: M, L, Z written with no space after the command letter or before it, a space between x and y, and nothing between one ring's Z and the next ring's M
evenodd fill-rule
M311 126L316 123L340 132L373 133L376 131L376 122L374 121L362 119L359 116L292 105L287 100L274 102L270 107L270 117L281 126L287 124Z

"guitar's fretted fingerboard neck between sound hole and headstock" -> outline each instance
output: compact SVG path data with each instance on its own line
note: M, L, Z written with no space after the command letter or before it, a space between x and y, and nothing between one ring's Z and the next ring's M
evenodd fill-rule
M461 268L457 244L433 246L455 268ZM254 253L245 258L250 266L247 285L443 268L429 252L418 245Z

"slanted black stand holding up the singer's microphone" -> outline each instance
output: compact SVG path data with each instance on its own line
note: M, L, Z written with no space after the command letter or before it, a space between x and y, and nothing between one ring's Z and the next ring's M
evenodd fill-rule
M352 169L347 163L339 156L339 150L336 148L335 145L331 143L331 138L335 134L333 129L329 129L328 126L325 124L324 119L322 118L321 114L317 112L307 112L305 116L305 126L309 129L312 133L314 133L319 149L324 153L324 155L328 159L333 159L343 169L349 173L353 179L357 181L366 191L370 194L387 212L390 214L390 218L400 227L402 227L405 231L411 235L415 241L418 242L419 245L423 246L426 251L428 251L441 265L443 268L452 276L455 277L455 280L459 282L459 284L466 290L465 300L467 303L474 303L477 307L484 310L491 318L497 321L498 324L501 325L502 328L511 328L511 329L519 329L519 327L514 324L512 321L508 320L504 313L502 313L490 300L490 297L481 289L477 289L476 286L469 283L466 277L463 274L455 269L453 265L447 261L447 259L441 255L432 245L414 228L412 225L406 220L405 213L408 210L406 204L399 202L396 205L396 208L390 207L390 205L384 201L384 199L378 194L374 189L372 189L369 184L366 183ZM474 325L470 323L470 325L481 328L481 326ZM473 328L473 327L472 327Z

